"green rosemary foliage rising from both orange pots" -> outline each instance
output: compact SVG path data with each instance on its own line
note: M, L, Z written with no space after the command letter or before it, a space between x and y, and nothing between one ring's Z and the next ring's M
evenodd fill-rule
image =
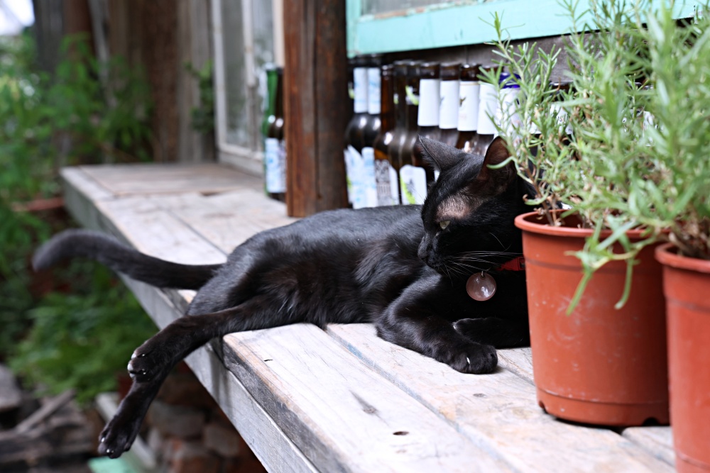
M537 191L529 203L549 225L574 214L594 230L575 254L584 277L569 311L592 274L613 260L627 264L623 305L646 245L670 238L689 255L710 257L708 20L677 21L674 4L661 3L592 1L578 15L568 1L569 91L547 87L559 49L513 46L501 18L493 21L501 67L486 80L498 87L498 131L510 160ZM508 79L503 67L513 73ZM506 83L520 87L517 101L506 100ZM630 240L632 228L644 229L643 238Z

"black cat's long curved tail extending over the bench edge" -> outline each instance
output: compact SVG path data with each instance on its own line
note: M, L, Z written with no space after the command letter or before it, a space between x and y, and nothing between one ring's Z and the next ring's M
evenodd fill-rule
M73 257L87 257L127 276L157 287L200 289L222 265L180 265L143 255L119 240L91 230L65 230L35 252L36 270Z

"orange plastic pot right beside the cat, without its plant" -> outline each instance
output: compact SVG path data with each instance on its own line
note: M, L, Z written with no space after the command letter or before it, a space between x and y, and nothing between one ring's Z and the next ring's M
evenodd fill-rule
M665 300L651 247L639 255L628 302L621 299L626 263L591 278L574 311L566 311L582 277L570 255L591 230L552 227L537 213L515 218L523 230L532 372L537 401L553 416L599 425L668 423ZM640 238L630 231L629 237Z

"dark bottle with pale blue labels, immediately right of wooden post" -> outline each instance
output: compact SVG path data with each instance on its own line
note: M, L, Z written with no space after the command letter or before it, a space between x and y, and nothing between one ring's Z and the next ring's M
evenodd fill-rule
M367 67L364 57L353 61L353 116L344 135L344 158L347 179L348 201L352 206L364 206L364 192L361 185L362 148L365 145L367 113Z

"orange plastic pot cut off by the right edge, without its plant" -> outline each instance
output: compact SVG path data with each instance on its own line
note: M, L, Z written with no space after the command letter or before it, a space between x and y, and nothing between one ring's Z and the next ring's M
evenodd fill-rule
M668 317L670 418L679 472L710 472L710 261L656 248Z

